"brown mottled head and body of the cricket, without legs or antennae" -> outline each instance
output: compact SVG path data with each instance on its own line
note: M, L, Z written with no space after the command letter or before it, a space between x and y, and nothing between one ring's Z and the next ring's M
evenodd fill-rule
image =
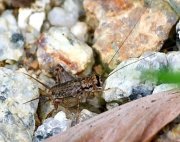
M53 99L76 97L83 92L93 92L102 88L102 81L98 75L78 78L64 83L58 83L50 88Z

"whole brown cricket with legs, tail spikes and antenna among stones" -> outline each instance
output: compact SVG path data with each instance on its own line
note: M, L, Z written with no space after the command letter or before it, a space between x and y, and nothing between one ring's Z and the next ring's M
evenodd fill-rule
M121 70L121 69L125 68L126 66L129 66L130 64L139 62L140 60L143 60L154 54L155 53L152 53L152 54L150 54L144 58L141 58L137 61L131 62L131 63L119 68L118 70ZM115 70L114 72L109 74L109 76L114 74L118 70ZM80 100L84 97L84 94L86 94L86 93L88 94L88 93L92 93L92 92L102 92L102 91L108 90L108 89L103 90L104 80L102 79L101 76L99 76L97 74L93 74L93 75L90 75L87 77L82 77L82 78L74 78L69 73L67 73L61 65L58 65L57 68L55 69L55 71L56 71L55 77L57 80L57 84L55 84L52 87L47 86L46 84L42 83L38 79L36 79L28 74L26 74L26 75L33 78L34 80L36 80L37 82L39 82L45 88L48 89L48 91L49 91L48 95L43 95L41 97L47 97L47 98L50 98L50 100L53 100L55 110L57 110L59 103L63 102L64 99L70 98L70 97L76 98L77 99L77 108L78 108L77 109L78 116L76 118L77 120L79 118L79 103L80 103ZM39 99L41 97L35 98L33 100ZM31 102L33 100L30 100L28 102ZM28 103L28 102L26 102L26 103ZM51 113L50 113L50 115L51 115ZM76 122L77 122L77 120L76 120Z

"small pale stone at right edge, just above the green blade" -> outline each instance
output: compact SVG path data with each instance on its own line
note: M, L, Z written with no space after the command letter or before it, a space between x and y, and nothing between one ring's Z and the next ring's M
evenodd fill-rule
M170 71L179 71L180 70L180 51L178 52L169 52L167 55L168 68Z

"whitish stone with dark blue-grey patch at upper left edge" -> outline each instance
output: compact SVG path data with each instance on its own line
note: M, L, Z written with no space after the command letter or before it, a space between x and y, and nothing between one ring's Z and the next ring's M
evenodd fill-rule
M13 11L6 10L0 17L0 61L18 61L23 51L24 37L17 26Z

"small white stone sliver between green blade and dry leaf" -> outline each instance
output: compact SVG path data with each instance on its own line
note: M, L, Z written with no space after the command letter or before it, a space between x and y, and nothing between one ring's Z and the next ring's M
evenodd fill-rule
M170 91L172 89L177 89L177 88L179 88L177 84L160 84L154 88L153 94L164 92L164 91Z

